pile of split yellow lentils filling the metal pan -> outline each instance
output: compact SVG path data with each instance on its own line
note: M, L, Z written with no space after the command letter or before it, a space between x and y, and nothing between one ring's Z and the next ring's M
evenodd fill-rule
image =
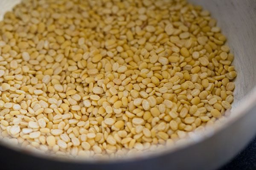
M25 0L0 22L1 138L121 156L174 144L233 102L233 54L185 0Z

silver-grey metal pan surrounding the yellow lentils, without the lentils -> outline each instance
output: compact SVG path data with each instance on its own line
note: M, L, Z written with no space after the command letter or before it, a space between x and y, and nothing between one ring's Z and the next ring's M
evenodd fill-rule
M236 88L233 108L225 114L226 119L177 147L124 159L83 160L47 156L1 140L1 147L9 151L6 158L20 159L17 166L27 166L26 160L33 160L29 164L33 169L61 166L62 169L214 170L239 153L256 134L256 1L188 1L210 11L227 36L227 44L235 56ZM1 0L0 19L19 2Z

